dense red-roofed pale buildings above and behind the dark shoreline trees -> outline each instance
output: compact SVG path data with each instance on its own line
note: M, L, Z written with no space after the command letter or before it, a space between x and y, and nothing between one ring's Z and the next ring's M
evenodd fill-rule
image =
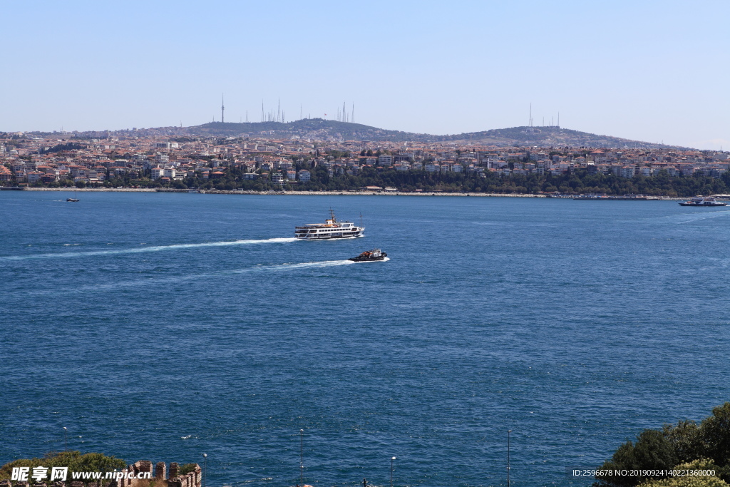
M456 142L364 142L254 137L141 137L104 133L0 134L1 185L219 185L282 187L321 177L417 173L430 177L709 177L728 153L677 148L508 147ZM419 176L420 177L420 176ZM219 187L214 186L214 187ZM258 186L257 186L258 187ZM388 186L391 188L392 186Z

